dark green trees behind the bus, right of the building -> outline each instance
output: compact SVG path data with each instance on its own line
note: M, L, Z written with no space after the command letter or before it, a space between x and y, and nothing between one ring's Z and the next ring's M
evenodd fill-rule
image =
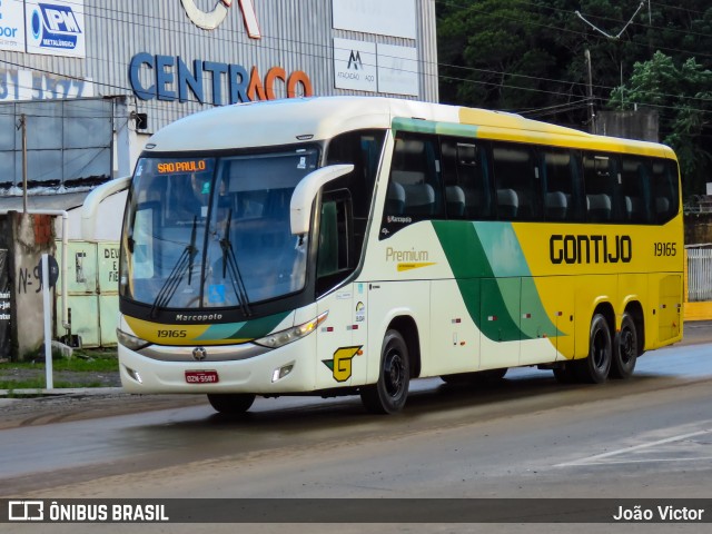
M640 0L438 0L441 100L584 128L589 50L595 108L654 107L685 191L702 192L712 179L712 4L680 3L639 10Z

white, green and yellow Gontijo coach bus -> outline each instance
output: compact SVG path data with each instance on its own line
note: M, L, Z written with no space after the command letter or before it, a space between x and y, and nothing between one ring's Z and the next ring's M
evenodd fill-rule
M386 98L245 103L152 136L121 238L132 393L359 394L626 378L682 337L673 151Z

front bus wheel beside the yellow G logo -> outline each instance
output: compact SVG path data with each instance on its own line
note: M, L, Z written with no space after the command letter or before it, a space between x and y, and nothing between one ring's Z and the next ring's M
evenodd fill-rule
M405 406L409 380L408 346L399 332L388 330L380 350L378 382L363 387L360 399L374 414L395 414Z

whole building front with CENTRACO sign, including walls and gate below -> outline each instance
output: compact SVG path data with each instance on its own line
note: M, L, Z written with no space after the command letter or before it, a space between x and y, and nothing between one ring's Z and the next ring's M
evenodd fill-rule
M38 257L55 250L31 230L47 210L68 214L55 236L73 240L56 251L68 305L57 294L55 307L71 313L69 329L55 314L56 337L116 343L126 194L101 205L92 243L80 207L132 172L152 132L254 100L436 102L436 58L433 0L1 0L0 358L42 343Z

